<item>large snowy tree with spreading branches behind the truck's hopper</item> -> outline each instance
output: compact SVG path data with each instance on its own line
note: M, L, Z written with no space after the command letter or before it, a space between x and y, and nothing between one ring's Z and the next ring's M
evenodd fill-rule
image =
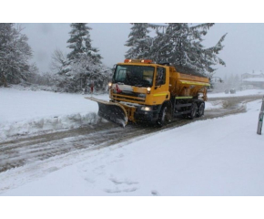
M147 58L156 62L172 63L187 72L191 70L192 73L210 76L215 71L213 68L215 65L225 65L225 62L218 57L218 53L223 49L222 42L226 35L219 39L215 47L205 48L202 45L203 36L207 35L208 29L213 25L212 23L196 26L188 23L169 23L167 26L145 24L147 27L156 29L156 36L148 37L145 41L139 40L139 42L145 42ZM144 34L145 32L142 36ZM140 34L137 35L140 36ZM130 47L133 43L137 48L136 39L130 42Z

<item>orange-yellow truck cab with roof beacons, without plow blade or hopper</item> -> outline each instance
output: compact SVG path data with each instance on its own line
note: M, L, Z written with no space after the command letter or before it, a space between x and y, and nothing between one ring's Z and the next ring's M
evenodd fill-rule
M129 120L155 123L170 99L169 68L151 60L126 59L115 68L109 98L126 108Z

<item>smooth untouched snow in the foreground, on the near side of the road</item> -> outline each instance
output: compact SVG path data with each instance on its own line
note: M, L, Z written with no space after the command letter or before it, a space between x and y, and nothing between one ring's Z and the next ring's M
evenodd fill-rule
M264 136L256 134L260 106L257 100L244 114L193 122L88 156L81 153L76 160L85 162L2 195L262 196Z

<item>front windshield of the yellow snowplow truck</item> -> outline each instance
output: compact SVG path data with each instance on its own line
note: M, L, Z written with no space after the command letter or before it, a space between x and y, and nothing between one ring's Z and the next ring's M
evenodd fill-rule
M154 67L121 66L118 65L113 83L122 83L136 87L151 87L153 83Z

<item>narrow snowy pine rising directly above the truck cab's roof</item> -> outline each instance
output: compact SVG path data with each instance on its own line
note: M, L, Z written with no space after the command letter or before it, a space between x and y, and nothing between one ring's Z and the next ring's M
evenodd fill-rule
M151 44L150 32L147 23L132 24L131 32L125 46L130 47L125 55L126 58L147 58Z

